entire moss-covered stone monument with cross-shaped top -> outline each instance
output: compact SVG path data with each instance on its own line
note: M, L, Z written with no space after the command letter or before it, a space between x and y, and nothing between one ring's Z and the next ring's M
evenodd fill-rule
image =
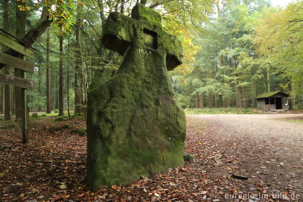
M123 55L117 73L88 95L87 183L125 184L184 165L185 113L167 70L183 60L181 42L162 17L137 4L132 18L112 12L105 48Z

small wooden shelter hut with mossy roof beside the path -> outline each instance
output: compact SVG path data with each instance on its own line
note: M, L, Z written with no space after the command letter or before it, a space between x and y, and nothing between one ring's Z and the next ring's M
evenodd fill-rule
M289 94L278 90L275 92L263 93L257 99L257 109L264 111L276 111L278 109L287 111L289 108L287 97Z

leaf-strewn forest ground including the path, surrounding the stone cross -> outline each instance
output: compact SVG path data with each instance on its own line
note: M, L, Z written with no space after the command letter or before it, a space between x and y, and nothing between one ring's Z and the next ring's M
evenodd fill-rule
M0 201L303 201L302 114L188 115L194 161L97 192L85 185L86 137L70 133L85 121L50 120L35 121L26 145L0 129Z

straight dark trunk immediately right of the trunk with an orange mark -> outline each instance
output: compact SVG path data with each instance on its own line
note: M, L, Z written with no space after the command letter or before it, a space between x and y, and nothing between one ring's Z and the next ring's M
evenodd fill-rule
M61 32L61 31L60 31ZM59 116L63 115L63 33L59 39Z

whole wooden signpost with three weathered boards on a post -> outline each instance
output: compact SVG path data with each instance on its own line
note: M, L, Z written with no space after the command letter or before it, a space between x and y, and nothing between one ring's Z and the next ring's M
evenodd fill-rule
M0 83L21 87L21 98L22 98L22 142L28 143L28 132L26 126L26 110L27 110L27 98L26 89L34 89L34 82L26 79L26 72L34 73L34 64L25 61L25 56L34 58L34 52L26 49L24 46L18 44L14 40L2 35L0 33L0 44L7 46L23 55L23 59L16 58L5 53L0 53L0 63L13 66L22 70L22 76L11 76L6 74L0 74ZM1 67L0 67L1 69Z

